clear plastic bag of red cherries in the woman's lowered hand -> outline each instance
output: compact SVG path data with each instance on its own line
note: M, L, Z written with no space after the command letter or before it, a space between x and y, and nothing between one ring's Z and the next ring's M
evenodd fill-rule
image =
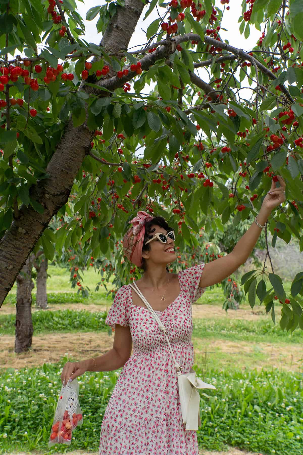
M55 444L70 445L72 432L83 424L79 403L79 384L77 378L65 385L63 381L55 410L49 447Z

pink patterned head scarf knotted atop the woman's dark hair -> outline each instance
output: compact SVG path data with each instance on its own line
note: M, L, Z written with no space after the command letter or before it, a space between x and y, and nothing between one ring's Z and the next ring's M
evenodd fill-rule
M133 223L133 227L127 231L123 239L123 253L130 262L137 267L142 266L142 247L145 234L145 223L152 220L154 217L147 212L139 211L129 223Z

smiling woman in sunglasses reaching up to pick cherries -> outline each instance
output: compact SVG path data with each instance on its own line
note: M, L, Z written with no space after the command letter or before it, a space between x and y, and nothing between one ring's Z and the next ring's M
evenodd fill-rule
M182 373L188 373L194 362L192 304L206 287L227 278L247 260L269 213L285 201L285 182L281 177L278 181L279 188L272 181L258 220L255 217L232 253L178 273L169 273L167 267L177 256L174 230L164 218L138 212L130 221L124 255L143 271L136 283L165 325ZM105 322L115 328L113 349L95 359L68 362L61 374L67 381L85 371L123 366L104 413L100 455L198 455L196 431L185 430L182 423L177 374L165 336L129 285L119 288Z

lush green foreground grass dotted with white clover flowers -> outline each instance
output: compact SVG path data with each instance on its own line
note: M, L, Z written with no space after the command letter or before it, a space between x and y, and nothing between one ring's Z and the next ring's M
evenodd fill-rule
M102 417L121 369L78 378L83 425L73 433L70 446L48 449L61 388L60 372L68 360L73 359L65 357L58 364L40 368L8 369L0 375L0 453L98 450ZM218 368L209 369L205 375L196 365L194 368L198 376L216 387L200 394L200 448L223 450L226 445L237 445L268 455L302 455L302 375L255 369L230 373Z

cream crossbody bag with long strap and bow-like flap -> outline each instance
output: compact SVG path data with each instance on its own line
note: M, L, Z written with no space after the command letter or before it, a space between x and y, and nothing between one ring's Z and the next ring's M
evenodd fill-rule
M206 382L203 382L201 379L199 379L196 372L192 368L190 369L189 373L181 373L182 367L176 362L173 349L171 348L169 339L166 335L165 326L160 321L157 313L155 313L153 308L149 305L148 301L141 293L137 284L134 282L133 284L129 284L129 286L134 289L139 297L142 298L146 307L149 309L149 311L154 316L154 319L156 319L157 323L159 324L159 328L163 331L169 345L169 349L173 356L174 365L177 372L182 420L183 424L186 425L185 430L198 430L199 426L201 426L200 394L198 389L215 389L215 386L212 384L207 384Z

